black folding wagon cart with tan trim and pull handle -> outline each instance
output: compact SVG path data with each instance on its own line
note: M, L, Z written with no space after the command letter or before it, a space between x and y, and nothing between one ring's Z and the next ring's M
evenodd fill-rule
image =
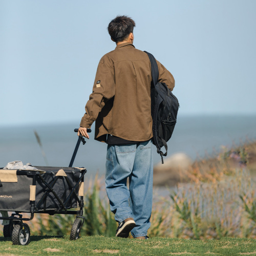
M72 165L81 141L86 143L80 135L69 167L34 166L36 170L0 168L0 220L4 224L4 237L11 237L13 244L29 243L30 229L24 221L32 220L34 214L76 215L70 240L78 239L84 221L83 184L87 170ZM79 210L68 210L71 208ZM9 217L8 211L14 213ZM23 218L24 212L29 213L30 218Z

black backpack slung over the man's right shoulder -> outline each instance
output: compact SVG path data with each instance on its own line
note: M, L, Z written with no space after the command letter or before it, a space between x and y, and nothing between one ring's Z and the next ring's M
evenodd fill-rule
M153 144L157 147L163 163L163 156L167 155L167 141L172 137L176 124L179 101L163 82L158 82L158 66L154 56L144 51L151 62L151 115L153 119ZM163 154L161 147L164 146L166 152Z

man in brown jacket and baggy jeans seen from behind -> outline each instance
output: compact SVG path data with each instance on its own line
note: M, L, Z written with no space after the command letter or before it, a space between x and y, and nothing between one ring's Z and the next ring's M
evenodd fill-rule
M150 228L153 190L151 63L133 46L135 22L117 16L109 24L116 48L99 61L93 93L86 104L78 135L108 143L106 193L119 223L116 237L146 239ZM174 78L160 62L159 81L170 90ZM129 178L129 188L126 186Z

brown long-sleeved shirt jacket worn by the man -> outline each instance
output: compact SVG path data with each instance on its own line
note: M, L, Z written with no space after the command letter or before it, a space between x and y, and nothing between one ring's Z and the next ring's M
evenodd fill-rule
M173 90L173 75L157 61L159 81ZM95 139L106 134L125 140L146 141L153 137L151 117L151 63L147 54L125 42L99 61L93 93L80 126L95 123Z

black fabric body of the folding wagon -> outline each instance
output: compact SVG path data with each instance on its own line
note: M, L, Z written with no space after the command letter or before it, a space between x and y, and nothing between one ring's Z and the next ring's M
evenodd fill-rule
M34 212L63 209L57 198L59 198L61 202L67 200L79 180L81 169L75 167L35 167L45 173L37 172L36 170L16 170L17 182L2 182L2 187L0 187L0 210L18 212L31 211L30 186L33 183L34 174L36 179ZM60 170L63 170L63 172L60 172ZM8 172L8 170L6 170L6 172ZM61 176L61 173L67 176ZM70 184L68 184L67 179L70 181ZM57 198L46 183L53 188ZM78 189L79 185L75 189L76 195L78 194ZM44 197L43 200L41 200L42 197ZM66 209L77 207L75 194L70 197L65 207Z

